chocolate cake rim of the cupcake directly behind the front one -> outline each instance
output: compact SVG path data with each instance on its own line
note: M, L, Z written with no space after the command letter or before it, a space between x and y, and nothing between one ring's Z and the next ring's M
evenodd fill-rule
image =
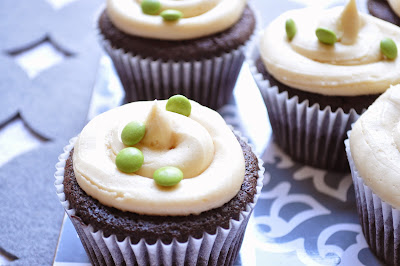
M163 61L192 61L219 56L243 45L250 38L254 28L255 17L249 7L244 10L240 20L229 29L211 36L182 41L125 34L112 24L106 11L103 11L99 19L99 29L113 48Z

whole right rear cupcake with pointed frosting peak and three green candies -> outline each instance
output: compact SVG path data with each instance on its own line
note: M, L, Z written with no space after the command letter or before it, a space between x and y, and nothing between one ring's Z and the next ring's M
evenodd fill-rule
M400 82L396 43L400 29L360 14L355 0L275 19L249 63L277 144L299 162L348 171L343 141L350 125Z

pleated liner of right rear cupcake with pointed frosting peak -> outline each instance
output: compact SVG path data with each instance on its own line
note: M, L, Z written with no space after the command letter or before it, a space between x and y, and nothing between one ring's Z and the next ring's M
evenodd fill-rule
M349 113L319 104L310 106L308 100L299 102L270 86L258 72L258 43L253 43L247 55L250 71L267 107L275 142L294 160L318 168L349 171L344 149L346 132L360 116L354 109Z

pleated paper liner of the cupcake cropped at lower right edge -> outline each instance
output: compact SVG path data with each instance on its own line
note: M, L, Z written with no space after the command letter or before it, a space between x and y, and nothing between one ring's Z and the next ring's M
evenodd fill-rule
M364 183L354 165L349 139L345 140L345 145L365 240L371 250L387 264L399 265L400 211L384 202Z

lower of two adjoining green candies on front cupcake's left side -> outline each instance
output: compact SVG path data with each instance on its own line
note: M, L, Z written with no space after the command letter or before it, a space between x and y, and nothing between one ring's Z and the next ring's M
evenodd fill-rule
M117 168L127 174L139 170L142 167L143 161L143 153L133 147L122 149L115 158Z

